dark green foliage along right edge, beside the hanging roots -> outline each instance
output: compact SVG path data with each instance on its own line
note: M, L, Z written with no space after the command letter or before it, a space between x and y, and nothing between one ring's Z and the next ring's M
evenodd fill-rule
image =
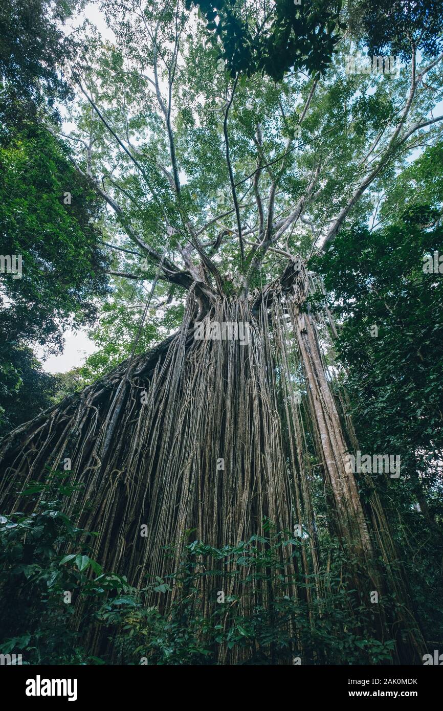
M372 476L397 522L395 538L429 639L443 624L443 275L423 272L425 255L443 254L436 216L412 205L385 228L356 225L312 263L341 321L336 347L359 447L400 455L400 479Z

